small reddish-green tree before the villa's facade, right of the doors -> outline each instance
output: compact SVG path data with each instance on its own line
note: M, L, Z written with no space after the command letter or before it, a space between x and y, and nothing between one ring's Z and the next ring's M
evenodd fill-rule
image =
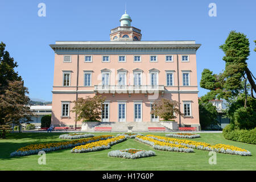
M166 121L176 118L175 114L182 114L179 110L179 102L174 100L168 100L162 98L161 100L156 100L152 106L151 114L158 115L160 118L163 118Z

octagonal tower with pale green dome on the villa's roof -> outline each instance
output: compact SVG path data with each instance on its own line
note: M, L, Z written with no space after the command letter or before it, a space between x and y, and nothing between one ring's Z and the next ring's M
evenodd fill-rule
M131 27L131 17L129 14L123 14L119 20L120 26L111 30L110 41L140 41L141 30Z

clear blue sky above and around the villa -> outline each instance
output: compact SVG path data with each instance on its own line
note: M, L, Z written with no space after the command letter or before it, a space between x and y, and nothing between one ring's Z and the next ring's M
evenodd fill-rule
M38 4L46 4L46 17L38 16ZM209 3L216 3L217 16L210 17ZM256 1L179 0L179 1L0 1L0 42L18 62L30 97L52 101L54 52L49 44L56 40L109 40L110 30L119 26L125 11L131 25L142 30L142 40L196 40L197 80L209 68L222 72L224 53L219 48L230 31L243 32L250 40L247 63L256 75ZM200 88L199 96L207 93Z

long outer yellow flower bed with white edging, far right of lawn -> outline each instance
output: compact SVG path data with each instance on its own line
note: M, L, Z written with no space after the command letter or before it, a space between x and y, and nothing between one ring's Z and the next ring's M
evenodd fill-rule
M230 146L227 144L211 145L209 143L204 143L204 142L196 142L193 140L186 140L186 139L159 137L156 135L146 135L146 137L156 139L162 142L168 142L172 144L181 144L183 146L187 146L189 148L196 148L198 150L207 150L207 151L220 152L224 154L233 154L233 155L242 155L242 156L251 155L250 151L247 151L245 149L238 148L235 146Z

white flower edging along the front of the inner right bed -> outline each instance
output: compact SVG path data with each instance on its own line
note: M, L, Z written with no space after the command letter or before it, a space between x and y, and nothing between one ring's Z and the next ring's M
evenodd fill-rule
M174 152L194 152L193 148L179 148L179 147L170 147L170 146L159 146L154 142L150 142L148 140L143 140L141 138L135 138L139 142L149 144L156 150L165 150L165 151L174 151Z

